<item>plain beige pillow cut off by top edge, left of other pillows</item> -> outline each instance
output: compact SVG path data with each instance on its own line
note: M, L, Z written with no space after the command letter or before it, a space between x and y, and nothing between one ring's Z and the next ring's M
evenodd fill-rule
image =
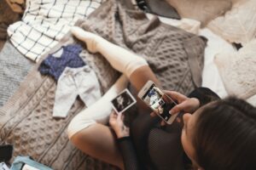
M210 20L231 8L230 0L166 0L183 18L201 21L206 26Z

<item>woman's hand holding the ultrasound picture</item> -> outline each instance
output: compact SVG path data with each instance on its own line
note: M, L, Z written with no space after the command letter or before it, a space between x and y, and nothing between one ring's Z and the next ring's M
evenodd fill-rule
M122 113L112 112L109 118L109 124L116 133L118 139L130 136L130 129L124 124L124 115Z

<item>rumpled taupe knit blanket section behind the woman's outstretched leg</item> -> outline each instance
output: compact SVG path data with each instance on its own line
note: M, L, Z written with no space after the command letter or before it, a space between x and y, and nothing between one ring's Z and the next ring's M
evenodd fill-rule
M160 23L157 17L148 20L142 12L126 10L112 0L97 8L89 20L79 20L76 26L141 55L165 89L189 94L195 87L201 86L206 46L201 37ZM111 71L112 78L118 77L118 72L106 64L106 59L100 54L85 53L100 82L106 82L106 67ZM98 65L104 65L105 68ZM108 86L103 89L108 89Z

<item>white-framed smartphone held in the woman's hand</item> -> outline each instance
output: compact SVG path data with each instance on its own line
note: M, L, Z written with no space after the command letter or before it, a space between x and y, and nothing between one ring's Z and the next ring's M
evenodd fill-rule
M176 119L177 114L171 115L169 111L177 103L170 96L164 94L160 88L156 87L154 82L148 81L137 96L167 124L172 124Z

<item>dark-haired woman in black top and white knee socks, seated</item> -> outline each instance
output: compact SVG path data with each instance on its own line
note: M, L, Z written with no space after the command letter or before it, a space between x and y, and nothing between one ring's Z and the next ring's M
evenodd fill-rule
M125 127L124 116L111 113L110 100L128 81L137 91L148 80L160 83L143 58L79 27L72 32L91 53L101 53L123 73L102 99L81 111L68 127L69 138L84 153L129 170L256 169L252 105L236 98L219 99L207 88L197 88L189 97L166 91L178 103L170 114L181 112L176 122L160 126L159 117L138 101L139 114L130 128ZM108 120L112 128L106 126Z

